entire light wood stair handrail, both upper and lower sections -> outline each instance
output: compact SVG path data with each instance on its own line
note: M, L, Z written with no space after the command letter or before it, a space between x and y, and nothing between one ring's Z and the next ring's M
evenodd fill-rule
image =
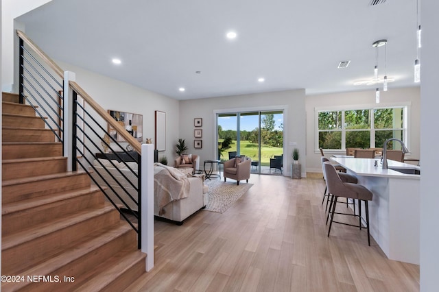
M50 68L55 71L56 74L58 74L61 78L64 78L64 71L61 69L61 67L58 66L58 64L56 64L54 60L49 58L49 56L47 56L47 54L42 49L40 49L40 47L38 47L30 38L28 38L24 32L21 32L20 30L17 29L16 34L19 36L19 38L21 38L24 42L26 42L26 44L29 47L31 47L32 50L35 51L35 53L41 59L43 59L50 66ZM97 112L97 114L99 114L99 116L102 117L102 119L104 119L104 121L106 121L119 134L121 134L121 136L126 140L126 142L132 145L132 148L135 151L137 151L137 153L141 154L142 148L141 148L141 143L139 143L139 141L137 141L119 123L117 123L117 121L113 119L110 116L110 114L108 114L108 112L106 112L106 110L102 108L102 106L99 106L99 104L97 104L97 102L93 98L91 98L91 96L88 95L85 92L85 90L82 89L81 86L79 86L76 82L72 82L72 81L69 82L69 85L71 86L71 88L73 88L73 90L76 91L76 93L78 93L78 95L80 95L80 97L82 97Z

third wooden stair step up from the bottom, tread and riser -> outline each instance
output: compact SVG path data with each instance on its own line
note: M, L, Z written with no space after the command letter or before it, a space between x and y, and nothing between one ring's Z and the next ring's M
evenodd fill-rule
M86 209L29 230L2 236L2 272L5 275L17 275L21 270L73 247L87 234L109 228L119 221L119 212L112 205L106 204L103 208Z

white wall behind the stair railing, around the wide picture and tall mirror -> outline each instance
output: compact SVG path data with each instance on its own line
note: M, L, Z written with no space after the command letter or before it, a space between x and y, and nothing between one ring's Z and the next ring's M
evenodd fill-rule
M76 82L106 110L119 110L143 115L143 143L155 133L154 113L166 112L166 151L158 157L174 158L174 138L178 136L178 101L152 91L114 80L104 75L86 71L72 64L56 61L64 71L76 73Z

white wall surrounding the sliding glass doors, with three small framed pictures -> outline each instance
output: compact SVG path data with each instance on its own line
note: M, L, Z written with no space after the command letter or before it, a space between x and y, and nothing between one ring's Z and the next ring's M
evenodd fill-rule
M180 101L180 136L174 138L186 139L191 154L200 155L200 167L204 160L216 159L215 150L215 112L221 110L263 110L285 109L284 111L284 165L292 162L292 149L289 142L296 142L300 151L299 161L302 163L302 175L305 177L305 90L287 90L272 93L251 95L235 95L206 99L191 99ZM193 148L194 118L202 118L202 149ZM175 156L176 154L174 154ZM284 167L284 175L289 175L289 167Z

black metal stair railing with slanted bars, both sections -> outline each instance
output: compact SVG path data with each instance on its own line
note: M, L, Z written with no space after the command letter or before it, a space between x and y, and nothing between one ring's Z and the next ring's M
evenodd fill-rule
M72 171L86 172L93 184L106 196L123 219L137 232L141 248L141 154L127 151L126 143L108 133L102 125L112 119L89 106L86 99L73 90L71 112L64 110L62 69L45 55L22 32L19 35L19 97L21 104L29 104L45 121L60 143L67 143L64 127L71 115ZM71 90L71 89L70 89ZM82 88L80 88L82 90ZM84 95L86 93L82 91ZM93 101L91 97L88 100ZM118 130L118 129L114 129ZM119 135L120 132L117 132ZM70 136L70 135L69 135ZM64 147L63 147L64 149ZM106 149L106 151L104 151ZM109 150L109 151L108 151ZM64 150L63 150L64 151ZM106 159L114 156L115 161ZM103 159L104 158L104 159ZM132 223L133 219L137 220Z

